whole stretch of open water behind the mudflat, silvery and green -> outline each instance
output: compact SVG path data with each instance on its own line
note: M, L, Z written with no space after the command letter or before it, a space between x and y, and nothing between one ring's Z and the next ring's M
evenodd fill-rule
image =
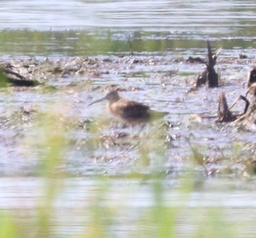
M255 2L1 1L4 55L168 54L255 48ZM254 54L255 56L255 54Z

